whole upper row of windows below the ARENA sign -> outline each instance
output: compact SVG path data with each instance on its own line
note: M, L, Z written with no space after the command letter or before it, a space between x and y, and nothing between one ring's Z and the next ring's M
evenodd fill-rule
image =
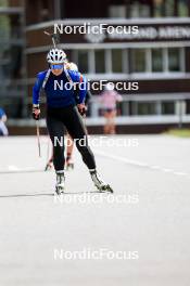
M185 68L183 48L67 50L66 54L85 74L150 75L181 73Z

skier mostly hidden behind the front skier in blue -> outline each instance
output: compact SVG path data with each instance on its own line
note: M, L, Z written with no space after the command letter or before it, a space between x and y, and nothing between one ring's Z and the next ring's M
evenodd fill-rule
M65 62L66 62L66 60L65 60ZM72 63L72 62L67 61L67 63L65 63L65 67L67 69L72 69L72 70L78 72L77 65L75 63ZM75 100L76 100L76 103L77 103L78 99L79 99L78 98L79 90L76 89L74 91L74 94L75 94ZM83 113L80 113L83 117L86 117L86 113L87 113L87 109L88 109L88 103L89 103L91 96L92 96L91 92L89 90L87 90L87 94L86 94L86 98L85 98L85 107L86 108L84 108ZM69 142L69 144L67 144L67 146L66 146L65 167L66 167L67 170L69 170L69 169L74 169L74 161L73 161L74 142L73 142L73 140L72 140L69 134L67 134L67 142ZM50 157L50 159L48 160L48 162L46 165L45 171L51 170L52 167L53 167L53 148L52 148L51 157Z

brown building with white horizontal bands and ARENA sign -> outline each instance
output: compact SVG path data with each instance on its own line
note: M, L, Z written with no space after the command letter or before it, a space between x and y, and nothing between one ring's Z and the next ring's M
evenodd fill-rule
M47 68L46 54L51 40L43 34L60 32L59 47L77 63L90 82L125 82L119 90L123 103L117 118L121 132L160 131L190 122L190 2L189 0L25 1L26 90L25 109L31 103L36 74ZM88 23L105 24L103 32L71 32L65 27ZM127 32L116 32L116 27ZM63 32L62 32L62 28ZM131 28L138 27L132 34ZM121 28L121 29L122 29ZM109 32L112 31L112 32ZM138 89L132 88L138 83ZM137 86L136 86L137 87ZM100 90L93 100L87 123L96 131L103 125ZM42 99L42 104L43 104ZM27 112L26 112L27 114Z

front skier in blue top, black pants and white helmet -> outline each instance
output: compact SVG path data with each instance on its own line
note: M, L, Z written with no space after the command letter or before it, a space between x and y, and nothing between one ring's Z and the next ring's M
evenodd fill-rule
M55 192L60 195L65 190L64 144L59 143L62 140L64 141L64 128L76 142L76 147L89 169L96 187L101 192L113 192L111 186L97 172L94 156L88 145L87 131L80 115L85 109L87 81L80 73L67 69L65 60L66 55L63 50L51 49L47 55L49 69L37 75L33 88L33 117L35 120L40 118L39 99L42 88L47 98L47 128L53 144L53 166L56 173ZM56 82L62 81L63 89L54 89L54 80ZM67 89L65 86L68 81L73 84L72 89ZM76 103L74 95L75 83L83 83L79 86L78 103ZM85 145L80 144L80 139L86 139Z

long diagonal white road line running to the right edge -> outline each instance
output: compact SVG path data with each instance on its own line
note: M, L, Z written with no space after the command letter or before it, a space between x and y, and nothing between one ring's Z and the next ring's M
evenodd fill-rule
M132 165L132 166L144 167L144 168L162 171L162 172L165 172L165 173L172 173L172 174L175 174L175 176L188 176L188 177L190 176L187 172L176 171L176 170L170 169L170 168L164 168L164 167L160 167L160 166L156 166L156 165L149 165L147 162L131 160L131 159L124 158L124 157L121 157L121 156L111 155L111 154L107 154L106 152L102 152L102 151L94 151L94 153L98 154L98 155L101 155L103 157L111 158L111 159L118 160L118 161L123 161L125 164Z

